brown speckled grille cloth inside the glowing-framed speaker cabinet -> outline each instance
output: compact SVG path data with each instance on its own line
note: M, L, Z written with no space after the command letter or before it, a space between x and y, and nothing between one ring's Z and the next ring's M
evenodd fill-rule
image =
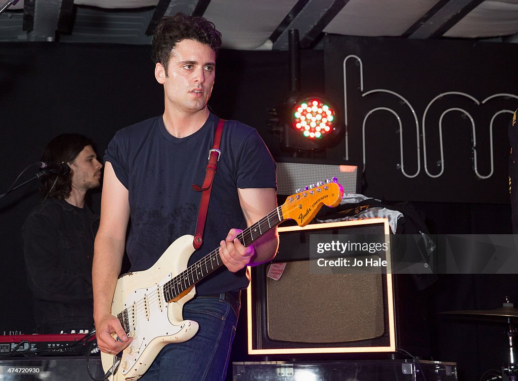
M382 274L315 274L310 261L293 261L266 286L272 340L340 343L384 334Z

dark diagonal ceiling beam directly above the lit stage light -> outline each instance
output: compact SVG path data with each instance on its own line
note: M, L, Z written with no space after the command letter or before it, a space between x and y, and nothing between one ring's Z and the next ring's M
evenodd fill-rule
M298 30L300 36L300 48L309 48L321 35L325 27L349 0L309 0L293 16L292 21L284 27L274 44L274 50L287 50L289 47L288 33L290 29ZM300 3L300 2L299 2ZM297 4L299 4L297 3Z

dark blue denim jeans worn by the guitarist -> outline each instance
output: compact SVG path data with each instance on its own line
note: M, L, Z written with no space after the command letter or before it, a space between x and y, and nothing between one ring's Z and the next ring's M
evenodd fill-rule
M196 297L186 303L183 318L197 321L198 332L184 343L166 345L140 381L224 380L239 316L235 294Z

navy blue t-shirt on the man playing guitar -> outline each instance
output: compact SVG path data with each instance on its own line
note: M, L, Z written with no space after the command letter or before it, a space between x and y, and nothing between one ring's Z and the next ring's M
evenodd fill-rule
M162 116L128 126L108 145L110 162L129 192L131 224L126 251L131 271L149 269L178 237L194 235L202 186L218 117L210 114L194 134L177 138ZM213 180L203 245L189 265L219 247L231 228L246 228L237 188L276 188L275 162L257 131L225 122L221 157ZM246 271L222 266L196 285L199 295L238 290L248 285Z

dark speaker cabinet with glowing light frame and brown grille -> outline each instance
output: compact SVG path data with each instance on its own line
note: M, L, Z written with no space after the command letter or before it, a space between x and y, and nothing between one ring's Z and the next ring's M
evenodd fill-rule
M315 234L377 235L388 243L389 232L382 218L279 228L277 257L251 268L249 354L395 351L390 245L387 267L376 272L315 271L309 252Z

